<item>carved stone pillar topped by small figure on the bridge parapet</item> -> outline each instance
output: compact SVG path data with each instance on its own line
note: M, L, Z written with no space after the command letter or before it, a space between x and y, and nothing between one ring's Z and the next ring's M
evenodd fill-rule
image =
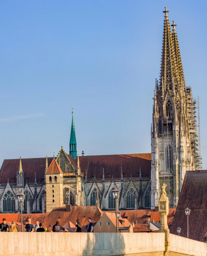
M168 225L167 225L167 215L169 213L169 199L165 191L166 186L167 185L163 183L161 197L159 198L159 201L158 201L159 214L161 217L161 228L159 229L159 232L165 233L165 252L164 252L165 256L168 255L169 247L170 247L170 230L168 229Z

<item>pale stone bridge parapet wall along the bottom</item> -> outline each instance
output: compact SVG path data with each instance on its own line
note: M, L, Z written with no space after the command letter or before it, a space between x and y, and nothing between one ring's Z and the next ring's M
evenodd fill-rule
M207 244L175 235L170 238L172 251L168 255L206 256ZM0 255L41 256L44 253L44 256L161 256L165 250L164 233L1 232L0 239Z

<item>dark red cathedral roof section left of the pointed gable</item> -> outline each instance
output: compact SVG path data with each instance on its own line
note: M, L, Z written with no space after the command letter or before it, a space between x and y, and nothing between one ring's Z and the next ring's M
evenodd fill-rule
M35 182L35 173L37 182L42 182L45 178L45 162L46 158L25 158L22 160L22 169L24 172L24 183ZM53 157L48 157L48 165L52 162ZM17 182L17 170L19 167L19 159L5 159L0 169L0 183Z

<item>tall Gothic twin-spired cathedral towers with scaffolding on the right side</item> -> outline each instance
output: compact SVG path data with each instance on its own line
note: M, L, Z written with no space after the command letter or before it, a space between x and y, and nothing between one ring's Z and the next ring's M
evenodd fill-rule
M151 128L151 208L158 207L159 191L168 185L170 207L176 207L186 171L196 168L196 102L185 86L180 49L173 21L172 32L165 7L161 73L154 89ZM192 126L193 125L193 126ZM193 138L194 137L194 138Z

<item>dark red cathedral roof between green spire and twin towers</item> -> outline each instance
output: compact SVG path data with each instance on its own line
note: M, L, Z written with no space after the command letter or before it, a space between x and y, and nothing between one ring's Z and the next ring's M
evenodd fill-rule
M125 155L90 155L79 156L81 172L87 169L87 178L102 178L103 168L105 178L120 178L121 167L123 177L150 177L151 153L146 154L125 154Z

